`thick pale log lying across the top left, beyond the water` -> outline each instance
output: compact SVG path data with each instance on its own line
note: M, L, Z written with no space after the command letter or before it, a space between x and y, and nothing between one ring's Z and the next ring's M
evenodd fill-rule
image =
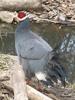
M0 10L20 10L41 7L41 0L0 0Z

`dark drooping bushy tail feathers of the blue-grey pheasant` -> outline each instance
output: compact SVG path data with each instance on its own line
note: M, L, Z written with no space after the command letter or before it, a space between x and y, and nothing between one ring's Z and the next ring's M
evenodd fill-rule
M56 60L52 59L50 60L48 66L47 66L47 80L51 80L50 83L62 83L62 85L65 87L66 85L66 71L65 68L58 63Z

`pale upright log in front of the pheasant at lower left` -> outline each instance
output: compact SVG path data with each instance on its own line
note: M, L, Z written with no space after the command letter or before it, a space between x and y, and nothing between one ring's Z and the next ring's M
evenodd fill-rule
M14 89L14 100L28 100L25 75L22 66L16 63L12 66L12 86Z

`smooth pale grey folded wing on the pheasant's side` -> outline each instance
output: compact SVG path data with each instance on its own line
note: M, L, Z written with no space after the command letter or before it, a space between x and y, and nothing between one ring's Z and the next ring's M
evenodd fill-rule
M41 59L48 54L48 50L37 39L23 41L23 43L19 45L19 49L20 56L25 59Z

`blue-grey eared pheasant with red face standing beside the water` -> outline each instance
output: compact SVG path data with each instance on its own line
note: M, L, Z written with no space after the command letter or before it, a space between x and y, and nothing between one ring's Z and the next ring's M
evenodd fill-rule
M65 70L55 58L52 47L30 29L26 13L18 13L19 24L15 31L15 48L20 64L28 78L36 77L45 85L61 81L65 85Z

